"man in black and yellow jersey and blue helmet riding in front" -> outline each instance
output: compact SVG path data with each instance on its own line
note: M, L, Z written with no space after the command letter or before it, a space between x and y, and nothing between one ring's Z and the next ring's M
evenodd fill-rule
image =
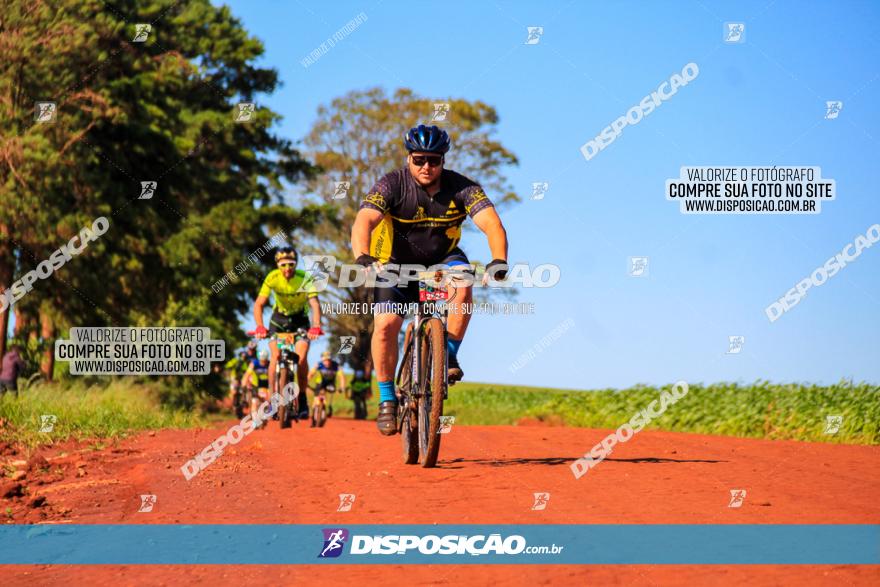
M492 262L487 273L495 279L507 275L507 232L480 184L443 168L450 148L446 131L419 125L404 137L409 155L401 169L380 178L361 202L351 231L351 248L357 262L374 264L420 264L464 267L471 272L467 256L458 247L461 224L473 219L489 241ZM471 286L453 282L449 307L447 351L449 382L464 373L458 363L458 347L467 330L470 314L462 304L473 300ZM374 288L377 303L372 355L379 383L379 416L376 424L385 435L397 432L397 395L394 371L398 359L397 338L403 324L401 304L418 301L418 284ZM454 295L454 298L453 298Z

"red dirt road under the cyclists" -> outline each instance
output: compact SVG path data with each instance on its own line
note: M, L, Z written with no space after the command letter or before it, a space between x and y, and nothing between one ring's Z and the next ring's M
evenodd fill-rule
M230 422L231 424L231 422ZM43 453L50 473L23 480L16 522L75 523L880 523L880 447L642 432L576 480L569 464L609 431L455 426L433 470L407 466L400 438L373 422L332 419L257 431L186 481L180 466L226 426L139 435L115 449L67 445ZM80 472L77 473L77 470ZM54 476L52 476L54 475ZM731 489L745 501L730 508ZM418 504L393 500L421 495ZM543 511L536 492L550 493ZM338 512L339 494L356 495ZM38 510L23 505L43 495ZM155 494L139 513L141 494ZM247 510L242 504L249 504ZM22 517L25 516L25 517ZM11 579L11 582L10 582ZM6 566L21 585L288 585L301 582L452 585L868 585L880 566Z

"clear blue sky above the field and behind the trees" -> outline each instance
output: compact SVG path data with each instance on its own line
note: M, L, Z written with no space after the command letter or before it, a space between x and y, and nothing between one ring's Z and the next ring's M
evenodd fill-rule
M510 258L555 263L522 290L528 316L477 316L460 352L472 381L566 388L769 379L880 380L880 247L866 249L778 321L764 308L880 222L876 31L859 2L228 3L284 86L263 102L298 140L320 104L352 89L483 100L523 203L503 220ZM349 37L300 60L355 18ZM722 42L744 22L745 42ZM544 27L526 45L527 26ZM699 76L590 161L579 147L689 63ZM843 109L825 120L825 101ZM837 199L814 216L685 216L664 182L686 165L819 166ZM479 180L479 178L474 178ZM531 200L531 184L550 184ZM491 194L490 194L491 196ZM479 233L465 238L488 261ZM630 256L649 275L627 275ZM574 327L512 373L567 319ZM728 336L745 336L726 354Z

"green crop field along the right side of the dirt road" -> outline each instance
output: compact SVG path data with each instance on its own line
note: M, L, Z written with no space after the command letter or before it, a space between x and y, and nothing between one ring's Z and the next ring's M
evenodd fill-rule
M533 418L554 424L618 428L658 399L661 389L565 391L484 383L450 388L444 413L456 424L516 424ZM842 415L837 434L825 434L828 415ZM693 384L648 429L753 438L880 444L880 387L723 383Z

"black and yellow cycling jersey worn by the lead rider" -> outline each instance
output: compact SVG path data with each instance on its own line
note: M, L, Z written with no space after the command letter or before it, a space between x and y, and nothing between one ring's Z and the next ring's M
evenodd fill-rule
M407 167L382 177L361 202L385 214L373 230L370 254L383 263L433 264L461 240L461 224L492 206L480 184L444 169L440 191L429 196Z

